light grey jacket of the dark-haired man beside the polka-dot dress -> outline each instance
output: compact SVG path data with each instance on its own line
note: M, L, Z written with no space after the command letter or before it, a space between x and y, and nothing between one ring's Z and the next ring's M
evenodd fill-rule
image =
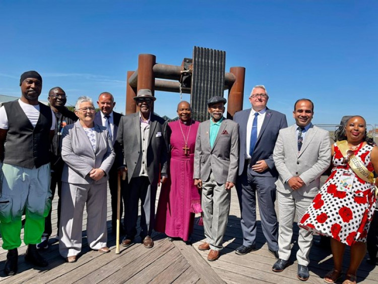
M330 135L328 131L311 124L298 152L296 125L281 129L273 159L279 173L277 191L286 194L292 192L285 182L299 176L305 185L297 192L302 196L314 197L319 191L320 176L331 162Z

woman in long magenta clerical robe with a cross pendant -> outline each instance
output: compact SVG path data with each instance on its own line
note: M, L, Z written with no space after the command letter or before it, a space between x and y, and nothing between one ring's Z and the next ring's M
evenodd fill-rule
M191 118L186 101L177 105L178 121L169 123L170 177L162 186L156 213L155 230L168 238L190 242L195 213L202 212L201 196L193 182L193 163L199 122Z

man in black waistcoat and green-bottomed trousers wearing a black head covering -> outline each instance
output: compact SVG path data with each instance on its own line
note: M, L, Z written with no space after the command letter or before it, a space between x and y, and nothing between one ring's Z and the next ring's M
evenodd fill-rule
M3 161L0 197L0 229L3 248L8 250L4 272L17 273L21 245L21 216L25 210L25 260L45 267L39 255L44 219L51 207L50 142L54 136L55 116L40 103L42 78L35 71L21 75L21 98L0 108L0 158ZM6 143L5 143L6 142Z

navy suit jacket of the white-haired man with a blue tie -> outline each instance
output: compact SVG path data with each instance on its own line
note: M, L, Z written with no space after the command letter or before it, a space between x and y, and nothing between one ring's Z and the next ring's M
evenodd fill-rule
M250 110L250 108L240 110L235 113L233 118L233 120L239 125L239 176L243 173L244 169L246 136L250 135L250 133L246 133ZM257 138L255 150L251 156L250 163L255 164L259 160L265 160L268 165L268 169L263 173L257 173L251 170L251 175L261 177L278 177L278 172L273 161L273 150L278 137L278 132L280 129L286 127L286 116L281 112L267 108L264 122L261 127L259 137Z

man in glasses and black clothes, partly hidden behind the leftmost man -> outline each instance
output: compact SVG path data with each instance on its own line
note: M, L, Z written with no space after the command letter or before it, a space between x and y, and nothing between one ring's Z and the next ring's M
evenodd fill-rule
M66 92L60 87L54 87L48 92L47 100L50 102L50 107L55 115L55 130L54 137L51 142L50 165L51 165L51 199L54 198L56 185L58 186L58 220L56 226L59 232L59 218L60 218L60 194L61 194L61 173L63 171L64 161L61 159L61 134L66 125L72 124L78 120L75 112L69 110L65 105L67 102ZM45 218L45 230L42 234L41 242L37 245L38 249L48 248L48 238L51 236L51 209Z

